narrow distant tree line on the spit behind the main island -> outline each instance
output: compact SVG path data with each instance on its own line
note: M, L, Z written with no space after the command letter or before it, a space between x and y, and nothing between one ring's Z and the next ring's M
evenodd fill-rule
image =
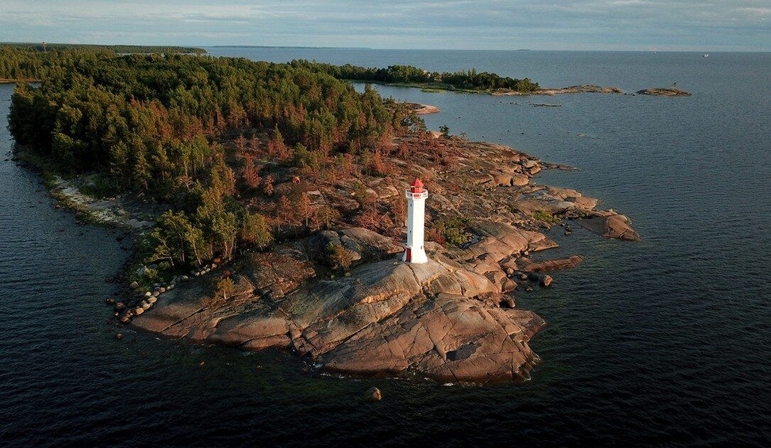
M337 79L373 82L436 82L452 85L457 89L494 90L511 89L519 92L532 92L538 89L538 83L530 79L501 77L495 73L476 72L476 69L460 72L428 72L411 65L390 65L385 69L359 67L356 65L332 65L322 62L295 60L295 67L303 67L314 72L327 73Z

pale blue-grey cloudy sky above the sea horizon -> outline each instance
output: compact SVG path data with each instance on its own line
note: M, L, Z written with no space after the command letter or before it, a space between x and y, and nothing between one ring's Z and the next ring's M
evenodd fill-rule
M771 51L771 0L0 0L0 42Z

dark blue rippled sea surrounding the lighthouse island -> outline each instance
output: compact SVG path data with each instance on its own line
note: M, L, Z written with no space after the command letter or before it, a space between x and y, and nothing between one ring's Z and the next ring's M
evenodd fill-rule
M562 246L545 256L587 260L557 272L550 289L518 295L517 306L548 323L531 342L544 362L528 383L485 388L313 376L286 353L111 326L113 287L103 279L126 252L113 232L76 226L38 176L5 160L12 140L2 126L0 446L771 443L771 54L210 52L475 67L554 87L677 82L693 96L507 99L379 87L439 106L425 116L429 128L576 166L537 180L601 198L644 238L555 231ZM11 94L0 85L0 117ZM362 402L373 385L384 400Z

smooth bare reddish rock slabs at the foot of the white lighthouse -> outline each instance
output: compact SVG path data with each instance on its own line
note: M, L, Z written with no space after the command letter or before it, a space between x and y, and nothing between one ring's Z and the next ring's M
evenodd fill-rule
M339 373L520 381L537 362L527 342L544 321L505 300L511 281L495 260L545 237L499 224L485 232L454 255L429 245L425 264L392 256L336 279L318 279L311 256L254 255L230 268L235 288L227 299L217 296L217 276L201 277L160 295L133 325L199 343L289 348ZM369 248L391 244L364 229L342 233Z

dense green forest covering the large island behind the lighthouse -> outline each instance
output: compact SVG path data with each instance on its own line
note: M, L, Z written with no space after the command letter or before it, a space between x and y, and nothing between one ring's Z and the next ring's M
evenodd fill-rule
M0 67L42 79L15 89L8 127L17 142L64 172L99 172L120 192L170 203L143 248L163 268L271 242L268 217L237 199L273 196L274 179L254 157L334 176L335 161L373 159L390 136L420 124L373 89L296 65L2 48ZM288 202L275 207L279 224L318 229L335 218L305 193Z

